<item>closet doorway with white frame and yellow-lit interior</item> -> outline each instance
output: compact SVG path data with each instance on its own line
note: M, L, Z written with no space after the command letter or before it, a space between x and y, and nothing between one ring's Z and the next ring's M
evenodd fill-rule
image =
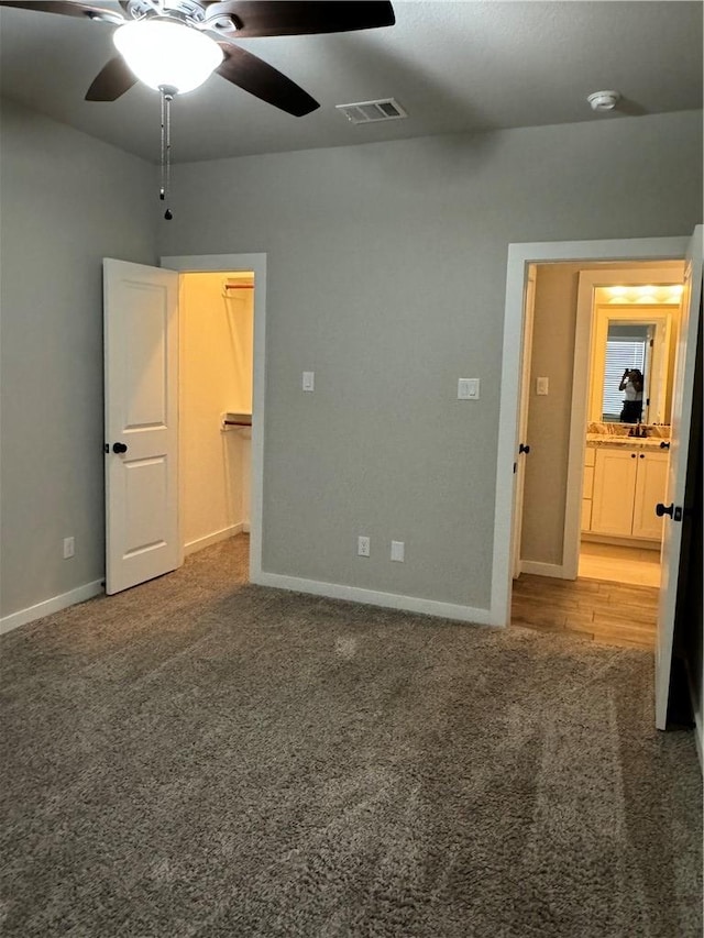
M161 265L180 275L182 562L249 531L249 580L256 583L262 573L266 254L167 256Z

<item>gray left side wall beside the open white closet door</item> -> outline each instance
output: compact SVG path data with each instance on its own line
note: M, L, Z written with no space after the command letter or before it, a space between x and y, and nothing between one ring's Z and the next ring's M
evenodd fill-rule
M105 573L103 256L154 263L148 164L2 101L0 615ZM63 539L76 555L63 560Z

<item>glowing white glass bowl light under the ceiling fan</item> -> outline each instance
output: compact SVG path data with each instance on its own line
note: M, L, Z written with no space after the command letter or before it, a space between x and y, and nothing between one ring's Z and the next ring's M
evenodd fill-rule
M217 42L190 26L165 20L125 23L113 42L140 81L150 88L193 91L222 63Z

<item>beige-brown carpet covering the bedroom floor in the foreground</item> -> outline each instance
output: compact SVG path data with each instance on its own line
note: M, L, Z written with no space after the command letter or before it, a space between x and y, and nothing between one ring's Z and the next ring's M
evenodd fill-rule
M244 538L3 637L3 938L694 938L652 655L244 583Z

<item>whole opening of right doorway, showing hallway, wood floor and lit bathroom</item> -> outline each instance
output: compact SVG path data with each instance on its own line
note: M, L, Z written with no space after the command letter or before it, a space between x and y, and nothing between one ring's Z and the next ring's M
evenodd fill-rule
M683 264L552 263L534 274L512 620L652 648ZM620 420L626 365L644 375L634 423Z

